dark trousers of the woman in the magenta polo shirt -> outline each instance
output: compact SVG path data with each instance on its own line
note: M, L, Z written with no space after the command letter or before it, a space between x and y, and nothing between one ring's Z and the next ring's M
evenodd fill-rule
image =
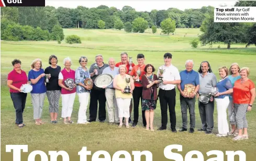
M13 100L13 105L16 112L15 123L23 124L23 112L26 105L27 93L10 93L10 97Z

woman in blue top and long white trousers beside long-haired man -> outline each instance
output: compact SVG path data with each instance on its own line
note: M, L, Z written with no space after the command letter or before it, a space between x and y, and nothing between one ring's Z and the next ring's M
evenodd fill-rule
M218 134L217 137L227 137L229 128L227 120L227 108L229 104L229 94L233 93L233 86L228 78L228 68L220 67L219 76L221 80L217 83L218 93L215 94L215 101L218 112Z

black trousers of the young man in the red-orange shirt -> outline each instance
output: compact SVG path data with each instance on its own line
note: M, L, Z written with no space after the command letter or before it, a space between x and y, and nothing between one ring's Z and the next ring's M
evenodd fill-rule
M133 90L133 123L138 123L139 119L139 104L142 105L142 89L143 87L135 86ZM142 109L142 107L140 107ZM143 126L147 125L146 118L145 118L145 111L142 110L142 122Z

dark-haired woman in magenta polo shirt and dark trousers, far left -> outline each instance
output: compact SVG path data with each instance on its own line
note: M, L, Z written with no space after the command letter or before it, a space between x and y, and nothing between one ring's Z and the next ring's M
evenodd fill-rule
M21 61L14 59L12 61L13 70L9 72L7 77L7 86L10 88L10 97L13 100L13 105L16 110L16 121L15 124L19 128L23 128L23 112L26 104L27 93L23 93L20 90L21 85L28 83L28 77L26 72L21 70Z

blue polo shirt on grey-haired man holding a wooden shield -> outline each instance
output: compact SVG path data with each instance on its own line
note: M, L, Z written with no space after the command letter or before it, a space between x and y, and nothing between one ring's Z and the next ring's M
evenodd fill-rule
M181 76L181 90L184 91L185 84L193 84L199 85L199 75L195 70L191 70L188 72L187 70L183 70L180 72Z

